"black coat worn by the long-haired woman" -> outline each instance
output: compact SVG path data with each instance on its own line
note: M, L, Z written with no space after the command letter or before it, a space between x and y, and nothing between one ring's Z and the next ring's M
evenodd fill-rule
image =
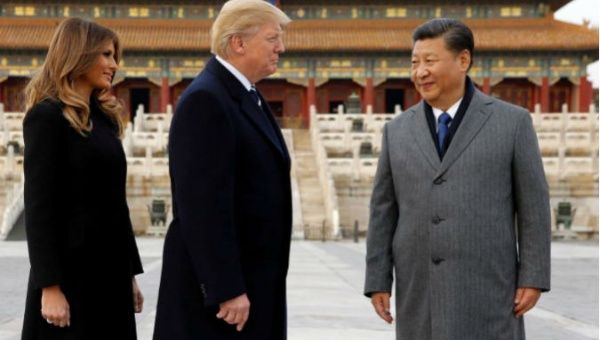
M135 339L132 276L142 272L125 196L127 164L115 125L91 99L82 136L59 102L23 121L25 228L31 271L22 339ZM59 285L71 326L41 315L43 287Z

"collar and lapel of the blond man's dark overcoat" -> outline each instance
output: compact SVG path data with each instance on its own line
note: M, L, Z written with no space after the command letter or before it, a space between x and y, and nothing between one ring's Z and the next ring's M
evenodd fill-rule
M273 114L267 104L267 101L260 95L260 100L263 103L263 109L266 112L262 112L260 107L253 101L252 96L246 90L244 85L227 70L219 61L212 57L206 64L206 70L214 74L219 78L229 95L233 100L239 103L240 111L250 121L250 123L260 132L260 134L271 144L277 151L277 154L283 157L283 159L289 163L289 154L285 147L285 141L281 130L277 125L277 122L273 118ZM266 114L265 114L266 113ZM268 124L271 124L271 128ZM274 134L273 134L274 132Z

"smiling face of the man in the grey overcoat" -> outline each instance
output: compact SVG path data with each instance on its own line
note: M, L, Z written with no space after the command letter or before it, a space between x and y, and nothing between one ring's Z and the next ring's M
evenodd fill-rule
M443 37L417 40L412 51L411 80L431 106L447 110L465 91L471 56L446 48Z

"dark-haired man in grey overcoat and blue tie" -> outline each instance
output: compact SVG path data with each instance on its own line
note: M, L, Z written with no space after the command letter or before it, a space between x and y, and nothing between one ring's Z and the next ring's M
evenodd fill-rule
M423 101L387 123L371 198L365 295L396 338L521 340L550 289L548 186L529 113L474 86L473 34L413 34Z

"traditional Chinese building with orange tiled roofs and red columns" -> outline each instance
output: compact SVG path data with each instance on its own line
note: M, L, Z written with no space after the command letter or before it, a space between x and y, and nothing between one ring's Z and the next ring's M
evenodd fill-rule
M352 93L363 110L393 112L419 98L410 79L411 34L434 17L474 31L470 75L484 92L529 110L587 111L586 66L598 59L598 30L553 19L564 0L280 0L294 21L279 72L258 84L282 126L305 127L308 107L334 112ZM23 110L21 91L43 62L64 17L93 18L124 47L115 93L128 110L164 112L210 57L209 28L222 1L8 1L0 4L0 102Z

